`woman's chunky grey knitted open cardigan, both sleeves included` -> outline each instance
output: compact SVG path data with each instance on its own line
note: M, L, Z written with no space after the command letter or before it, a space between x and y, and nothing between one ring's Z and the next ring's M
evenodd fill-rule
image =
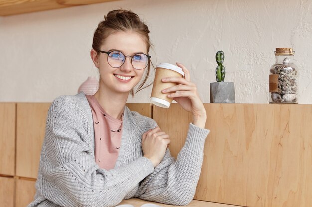
M112 207L123 199L187 205L194 197L209 130L190 123L177 160L167 149L155 168L143 157L142 134L153 119L125 107L123 134L114 169L94 159L92 112L86 96L56 98L48 111L35 200L28 207Z

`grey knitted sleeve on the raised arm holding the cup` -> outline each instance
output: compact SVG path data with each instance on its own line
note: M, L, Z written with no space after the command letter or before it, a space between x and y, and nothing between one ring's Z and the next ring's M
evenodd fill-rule
M140 184L136 197L171 205L188 205L196 191L203 161L204 144L209 130L192 123L177 159L167 149L154 172Z

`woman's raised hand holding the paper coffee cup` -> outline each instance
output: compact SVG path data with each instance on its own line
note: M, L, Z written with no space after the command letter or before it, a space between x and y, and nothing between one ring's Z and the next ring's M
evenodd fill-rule
M184 78L182 77L166 77L162 79L162 82L174 82L178 85L166 88L162 90L162 93L168 94L169 98L173 98L178 102L186 111L193 114L193 124L198 127L205 127L207 115L205 107L199 98L197 87L190 81L190 73L183 64L176 63L177 66L181 67L185 73Z

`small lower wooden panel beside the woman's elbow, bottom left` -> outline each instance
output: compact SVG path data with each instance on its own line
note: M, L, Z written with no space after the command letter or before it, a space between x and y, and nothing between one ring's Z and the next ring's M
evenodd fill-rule
M34 200L36 194L36 181L16 179L15 184L15 207L26 207Z

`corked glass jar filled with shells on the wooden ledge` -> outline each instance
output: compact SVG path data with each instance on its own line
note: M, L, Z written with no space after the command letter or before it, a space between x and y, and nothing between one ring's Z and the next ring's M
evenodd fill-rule
M276 48L275 64L270 68L270 103L297 103L297 66L292 48Z

